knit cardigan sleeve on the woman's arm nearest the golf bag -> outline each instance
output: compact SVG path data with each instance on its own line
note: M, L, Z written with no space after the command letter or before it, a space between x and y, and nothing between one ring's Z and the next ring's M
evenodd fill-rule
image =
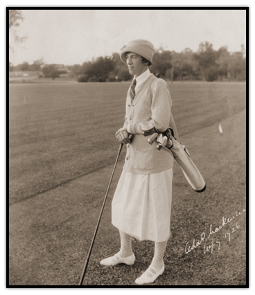
M155 127L159 132L164 132L169 127L172 100L168 85L162 79L157 79L153 89L151 111L152 116L148 122L132 123L128 125L131 134L143 134L142 129Z

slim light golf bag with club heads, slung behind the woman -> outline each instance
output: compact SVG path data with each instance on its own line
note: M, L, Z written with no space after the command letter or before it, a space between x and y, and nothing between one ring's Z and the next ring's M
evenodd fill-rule
M179 143L174 137L173 129L168 128L165 132L159 133L153 128L143 130L143 135L152 135L148 138L150 144L156 141L158 150L164 148L173 154L173 157L179 164L188 184L191 185L193 190L197 193L202 193L206 189L206 184L200 171L197 169L197 166L195 166L195 163L193 163L186 146Z

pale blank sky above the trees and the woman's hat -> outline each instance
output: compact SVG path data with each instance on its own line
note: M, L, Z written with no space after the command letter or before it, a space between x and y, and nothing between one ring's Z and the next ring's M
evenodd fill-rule
M10 62L82 64L112 55L132 39L148 39L155 48L197 51L200 42L218 50L240 51L245 44L245 10L21 10L16 28L21 44L10 34Z

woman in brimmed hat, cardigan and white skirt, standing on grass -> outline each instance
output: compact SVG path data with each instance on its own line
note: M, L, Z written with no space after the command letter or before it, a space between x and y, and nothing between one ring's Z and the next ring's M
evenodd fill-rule
M132 265L132 237L154 241L155 255L150 267L135 280L139 285L152 283L164 272L174 161L168 151L150 145L143 130L155 127L164 132L172 127L179 140L168 86L148 69L153 55L153 45L143 39L129 42L121 51L121 61L134 75L126 99L125 123L116 132L118 141L127 144L125 165L112 201L112 224L120 231L121 250L100 261L107 266Z

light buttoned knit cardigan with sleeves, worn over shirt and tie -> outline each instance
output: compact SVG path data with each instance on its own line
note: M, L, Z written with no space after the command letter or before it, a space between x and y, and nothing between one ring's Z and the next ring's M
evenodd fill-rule
M148 143L142 128L155 126L164 132L170 124L172 100L168 85L162 79L150 74L134 97L130 99L130 89L126 98L124 126L134 134L127 145L123 169L137 174L152 174L173 168L173 156L166 150L157 150L157 144Z

